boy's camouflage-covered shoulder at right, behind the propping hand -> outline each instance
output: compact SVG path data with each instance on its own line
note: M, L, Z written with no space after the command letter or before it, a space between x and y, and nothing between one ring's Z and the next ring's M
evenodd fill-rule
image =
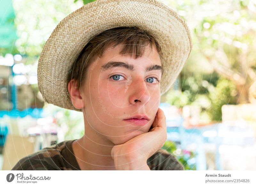
M159 149L148 160L150 170L185 170L180 161L165 149Z

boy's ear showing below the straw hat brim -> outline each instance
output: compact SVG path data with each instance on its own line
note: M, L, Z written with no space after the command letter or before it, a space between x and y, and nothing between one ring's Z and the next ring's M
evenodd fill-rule
M84 108L84 100L81 96L80 89L77 90L77 82L75 79L71 79L68 83L68 92L73 106L77 109Z

